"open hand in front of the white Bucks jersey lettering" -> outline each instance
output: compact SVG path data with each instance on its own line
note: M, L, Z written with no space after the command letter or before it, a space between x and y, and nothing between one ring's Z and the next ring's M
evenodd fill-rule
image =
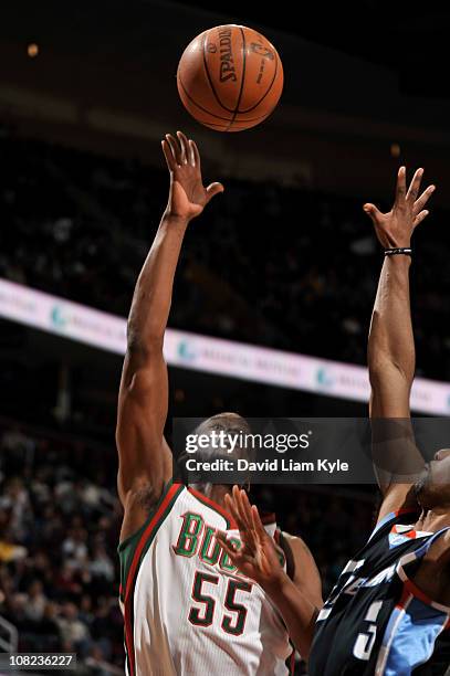
M216 531L216 538L244 575L265 590L276 585L285 573L280 563L280 552L264 530L258 507L250 505L245 490L238 486L233 486L232 497L226 495L226 506L238 524L242 546L240 549L234 547L222 530Z

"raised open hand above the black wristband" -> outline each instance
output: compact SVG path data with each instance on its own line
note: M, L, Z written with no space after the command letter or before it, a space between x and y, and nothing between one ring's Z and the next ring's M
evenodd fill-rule
M370 216L375 232L385 249L408 247L415 228L428 215L423 209L435 186L429 186L418 198L423 169L417 169L406 189L406 167L400 167L397 177L397 189L394 205L387 213L381 213L375 204L364 204L364 211Z

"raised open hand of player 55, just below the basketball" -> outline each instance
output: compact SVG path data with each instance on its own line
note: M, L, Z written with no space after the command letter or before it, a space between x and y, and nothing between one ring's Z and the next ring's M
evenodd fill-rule
M203 187L201 180L200 154L193 140L177 131L177 138L166 134L161 141L170 172L169 201L166 215L190 221L200 215L211 198L223 192L221 183Z

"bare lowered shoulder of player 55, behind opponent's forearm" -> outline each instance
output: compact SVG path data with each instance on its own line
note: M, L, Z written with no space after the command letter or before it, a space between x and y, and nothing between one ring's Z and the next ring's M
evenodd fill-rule
M302 538L282 532L279 541L286 557L287 573L294 584L317 609L323 606L322 580L316 562ZM290 559L292 564L290 564ZM292 566L292 571L290 570Z

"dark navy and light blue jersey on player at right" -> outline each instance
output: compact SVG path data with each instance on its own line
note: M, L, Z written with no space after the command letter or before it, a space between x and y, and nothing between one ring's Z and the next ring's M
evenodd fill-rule
M411 581L448 529L416 531L406 519L383 519L342 572L317 617L310 676L442 676L450 667L450 608Z

